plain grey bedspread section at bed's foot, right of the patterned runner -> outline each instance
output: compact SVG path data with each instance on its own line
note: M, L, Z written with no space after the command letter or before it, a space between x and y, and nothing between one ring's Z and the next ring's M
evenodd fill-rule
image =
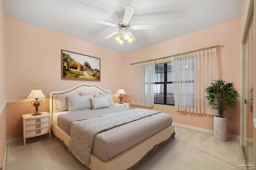
M98 133L94 138L92 153L102 161L111 160L171 124L169 114L157 113Z

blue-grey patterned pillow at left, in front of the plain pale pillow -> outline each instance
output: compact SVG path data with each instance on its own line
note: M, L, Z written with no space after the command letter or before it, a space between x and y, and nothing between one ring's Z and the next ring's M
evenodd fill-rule
M68 112L92 109L90 98L93 98L93 95L67 96Z

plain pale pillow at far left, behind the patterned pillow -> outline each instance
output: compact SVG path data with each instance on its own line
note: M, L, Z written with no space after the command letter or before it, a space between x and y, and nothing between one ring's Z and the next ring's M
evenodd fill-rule
M56 94L56 112L68 110L67 96L79 96L79 93Z

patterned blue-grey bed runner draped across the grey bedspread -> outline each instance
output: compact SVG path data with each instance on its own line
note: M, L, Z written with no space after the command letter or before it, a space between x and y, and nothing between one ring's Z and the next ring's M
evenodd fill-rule
M98 133L156 113L160 112L148 109L129 109L91 119L74 121L75 125L72 128L68 150L74 152L88 166L94 137Z

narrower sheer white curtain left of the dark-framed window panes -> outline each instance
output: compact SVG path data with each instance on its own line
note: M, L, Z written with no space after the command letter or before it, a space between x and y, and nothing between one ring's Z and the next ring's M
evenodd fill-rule
M132 65L132 105L154 106L155 61Z

